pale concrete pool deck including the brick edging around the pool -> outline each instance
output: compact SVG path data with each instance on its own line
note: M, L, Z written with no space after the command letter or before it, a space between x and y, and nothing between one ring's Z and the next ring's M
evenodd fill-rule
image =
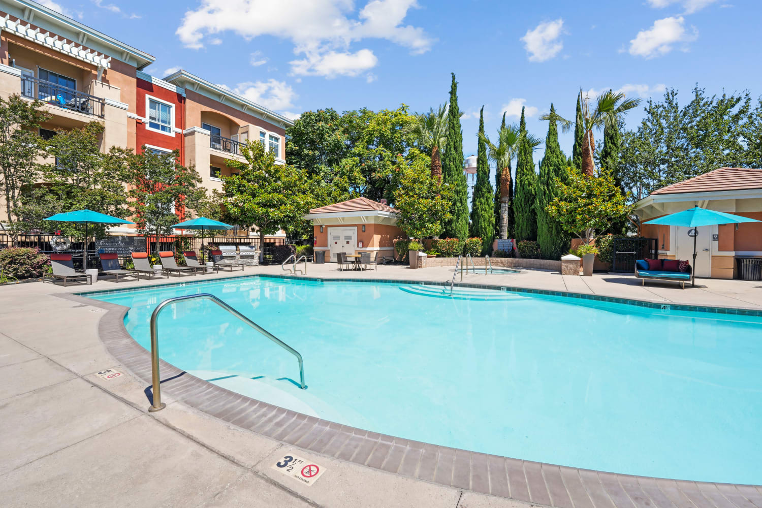
M452 267L308 270L331 279L443 283L453 276ZM255 273L284 274L280 266L253 267L151 282L0 287L2 505L762 508L762 487L564 468L352 430L251 401L165 363L167 407L148 413L149 355L120 330L123 308L72 295ZM469 274L463 282L762 310L762 283L739 280L679 289L656 281L643 287L626 274L525 270ZM122 374L102 379L97 373L106 369ZM324 473L311 486L281 474L272 466L289 453Z

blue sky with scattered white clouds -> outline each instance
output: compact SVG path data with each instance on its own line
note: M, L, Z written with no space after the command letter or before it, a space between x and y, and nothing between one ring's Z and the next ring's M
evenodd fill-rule
M186 69L281 113L333 107L423 111L459 81L465 155L479 107L488 134L502 111L545 136L555 104L573 117L580 88L690 100L762 94L758 0L487 2L485 0L45 0L156 56L146 72ZM628 117L636 126L642 109ZM571 135L562 149L571 152ZM537 161L542 148L536 152Z

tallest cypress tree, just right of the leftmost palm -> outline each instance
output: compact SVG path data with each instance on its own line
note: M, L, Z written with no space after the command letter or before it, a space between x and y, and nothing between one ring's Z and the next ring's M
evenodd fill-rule
M452 217L444 225L444 235L465 240L469 235L469 190L463 173L463 130L460 129L458 82L452 73L450 110L447 112L447 149L442 157L442 183L453 190Z

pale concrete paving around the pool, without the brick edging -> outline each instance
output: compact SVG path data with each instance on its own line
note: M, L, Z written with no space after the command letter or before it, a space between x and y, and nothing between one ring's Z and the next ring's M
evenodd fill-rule
M235 272L253 273L283 272L279 266ZM438 282L452 275L447 267L338 272L332 264L311 264L308 273ZM217 276L187 276L182 281ZM147 413L146 382L110 356L98 337L103 309L56 294L167 282L0 287L2 506L528 506L296 449L175 401L171 390L163 394L168 404L164 411ZM463 282L762 309L762 284L735 280L700 280L702 287L682 290L669 283L647 283L643 288L632 276L583 278L527 271L469 274ZM121 375L98 375L107 369ZM290 478L273 467L289 454L315 462L325 472L311 486ZM700 500L713 495L699 494ZM762 490L757 487L733 487L719 495L725 501L735 499L731 505L738 508L762 508ZM680 498L674 504L719 506L716 500L702 506L700 500ZM611 501L591 500L589 505L645 506L642 499Z

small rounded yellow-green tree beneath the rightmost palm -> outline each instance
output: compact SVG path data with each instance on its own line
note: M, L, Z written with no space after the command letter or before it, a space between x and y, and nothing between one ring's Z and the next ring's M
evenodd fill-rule
M606 231L611 222L626 218L632 212L632 205L627 204L627 197L616 187L612 174L605 168L601 168L594 178L577 168L568 168L566 181L556 178L555 183L558 195L548 205L548 213L565 231L581 238L585 245L590 245L597 234Z

